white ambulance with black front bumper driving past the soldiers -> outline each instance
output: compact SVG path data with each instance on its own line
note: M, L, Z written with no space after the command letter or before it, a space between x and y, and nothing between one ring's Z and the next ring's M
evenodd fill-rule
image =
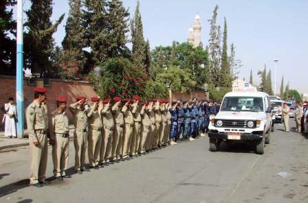
M223 97L219 113L210 121L210 151L219 150L222 141L245 141L256 146L256 154L263 154L265 144L270 143L272 122L267 93L256 88L235 88Z

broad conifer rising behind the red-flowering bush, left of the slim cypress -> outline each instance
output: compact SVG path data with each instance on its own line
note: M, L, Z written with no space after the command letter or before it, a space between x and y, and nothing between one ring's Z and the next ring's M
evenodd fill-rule
M121 0L111 0L107 5L107 57L115 58L123 56L126 50L129 12Z

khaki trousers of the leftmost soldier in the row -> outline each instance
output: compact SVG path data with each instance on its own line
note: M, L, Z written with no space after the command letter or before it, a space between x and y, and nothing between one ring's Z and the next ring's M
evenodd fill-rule
M39 131L37 131L39 132ZM47 167L47 134L40 133L34 135L39 142L38 145L34 145L33 141L36 140L32 136L29 136L30 154L31 154L31 167L30 167L30 184L36 184L45 180L46 167Z

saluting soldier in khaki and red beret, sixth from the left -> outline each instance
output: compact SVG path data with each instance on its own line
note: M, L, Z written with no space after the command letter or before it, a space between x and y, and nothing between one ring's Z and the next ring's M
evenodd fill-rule
M115 128L113 130L113 140L111 148L111 162L115 163L118 163L119 160L124 160L122 158L124 117L122 113L121 100L121 97L113 97L113 101L115 101L115 104L111 108L115 125Z

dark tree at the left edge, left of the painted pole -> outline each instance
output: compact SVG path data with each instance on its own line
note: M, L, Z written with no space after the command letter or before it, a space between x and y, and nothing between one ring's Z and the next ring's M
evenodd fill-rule
M1 0L0 2L0 72L13 75L16 72L16 46L15 40L10 38L14 34L16 22L12 20L14 0Z

